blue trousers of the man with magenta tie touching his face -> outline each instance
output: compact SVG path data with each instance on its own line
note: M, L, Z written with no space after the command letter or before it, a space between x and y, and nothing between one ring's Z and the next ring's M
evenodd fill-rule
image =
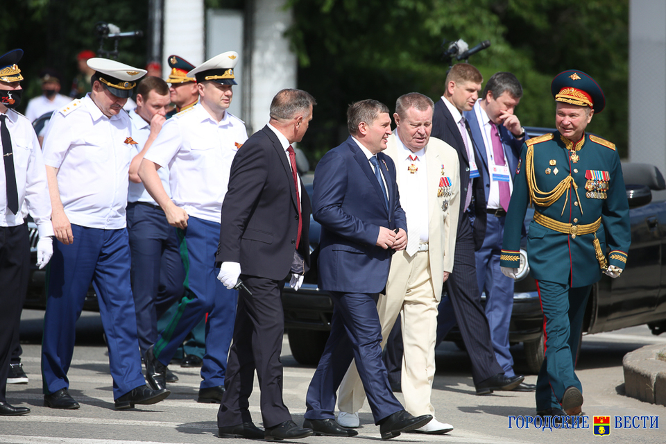
M475 252L479 290L486 291L486 318L497 364L507 377L515 376L513 357L509 351L509 323L513 309L513 279L507 278L499 268L504 237L504 219L488 214L484 244Z

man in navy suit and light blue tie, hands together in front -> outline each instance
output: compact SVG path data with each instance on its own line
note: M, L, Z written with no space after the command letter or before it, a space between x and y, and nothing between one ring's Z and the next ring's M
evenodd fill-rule
M335 303L331 333L307 391L303 427L316 434L355 436L335 422L336 391L352 358L382 439L432 419L404 410L382 361L377 297L384 291L393 250L407 246L393 160L381 151L391 135L388 108L375 100L350 105L350 137L326 153L315 171L312 216L321 223L319 288Z

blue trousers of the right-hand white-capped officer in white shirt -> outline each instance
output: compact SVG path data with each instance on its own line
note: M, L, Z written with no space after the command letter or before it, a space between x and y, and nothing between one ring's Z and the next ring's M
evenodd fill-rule
M185 336L208 314L200 388L224 385L236 317L238 292L226 289L217 280L219 269L214 267L219 237L219 223L196 217L187 220L185 230L178 230L180 257L185 266L185 293L153 349L155 357L168 365Z

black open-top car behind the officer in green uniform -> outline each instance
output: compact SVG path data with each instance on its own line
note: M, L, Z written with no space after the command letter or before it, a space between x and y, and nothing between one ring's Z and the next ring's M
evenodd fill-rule
M549 133L549 128L528 128L529 137ZM631 248L622 277L605 276L592 287L583 328L579 334L599 333L647 324L653 334L666 330L666 192L652 201L652 192L666 189L660 171L649 164L622 164L631 217ZM305 180L304 180L305 182ZM306 185L311 194L312 186ZM528 210L529 227L533 210ZM321 227L310 219L310 242L316 248ZM662 259L663 258L663 259ZM664 271L664 275L661 272ZM538 373L543 361L543 314L536 284L529 276L529 258L522 250L520 280L515 282L509 341L523 343L527 366ZM299 291L282 291L284 326L293 357L304 365L316 365L330 331L333 302L317 287L316 269L305 277ZM665 291L660 291L664 287ZM446 297L446 295L443 295ZM485 295L481 295L485 304ZM447 341L462 344L459 331Z

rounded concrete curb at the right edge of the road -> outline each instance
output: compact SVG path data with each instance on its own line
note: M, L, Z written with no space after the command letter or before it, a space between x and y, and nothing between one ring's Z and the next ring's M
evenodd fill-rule
M627 396L666 405L666 361L658 359L659 353L666 355L663 344L645 345L624 355L622 367Z

